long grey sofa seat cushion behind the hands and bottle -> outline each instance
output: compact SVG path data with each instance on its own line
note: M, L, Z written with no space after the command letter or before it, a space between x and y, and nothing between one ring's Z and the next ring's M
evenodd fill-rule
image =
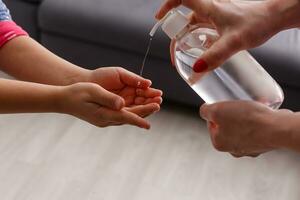
M139 53L142 58L160 4L161 0L44 0L39 26L46 33ZM169 60L168 45L169 39L159 31L151 55ZM251 53L280 84L300 88L298 29L276 35Z

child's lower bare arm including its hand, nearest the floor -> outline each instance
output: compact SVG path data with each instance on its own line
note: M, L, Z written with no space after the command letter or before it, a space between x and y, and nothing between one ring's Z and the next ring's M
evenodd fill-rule
M50 86L0 79L0 113L58 112L99 127L131 124L148 129L143 117L159 110L156 103L124 106L123 98L94 83Z

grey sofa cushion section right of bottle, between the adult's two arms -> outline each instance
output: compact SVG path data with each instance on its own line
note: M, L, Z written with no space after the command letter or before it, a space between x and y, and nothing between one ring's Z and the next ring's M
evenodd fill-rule
M300 88L299 29L278 33L251 53L279 83Z

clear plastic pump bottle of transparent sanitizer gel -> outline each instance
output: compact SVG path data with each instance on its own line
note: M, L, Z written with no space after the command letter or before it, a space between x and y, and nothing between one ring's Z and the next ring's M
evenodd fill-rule
M253 100L273 109L282 104L282 89L247 51L235 54L213 71L194 72L194 63L218 39L215 30L191 26L176 9L153 27L151 37L160 26L176 40L173 53L178 73L206 103Z

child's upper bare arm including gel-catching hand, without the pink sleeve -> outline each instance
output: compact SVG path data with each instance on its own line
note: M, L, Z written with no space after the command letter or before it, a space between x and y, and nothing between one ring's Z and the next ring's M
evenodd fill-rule
M126 106L162 101L161 91L150 88L150 80L119 67L83 69L59 58L28 36L14 38L0 49L1 68L22 81L61 86L96 83L122 96ZM139 93L137 89L147 92Z

